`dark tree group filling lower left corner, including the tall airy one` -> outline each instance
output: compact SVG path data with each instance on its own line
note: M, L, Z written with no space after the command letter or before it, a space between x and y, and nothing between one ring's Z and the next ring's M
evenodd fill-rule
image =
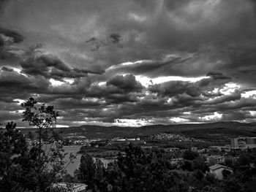
M52 125L56 122L58 112L53 110L53 106L37 104L33 98L24 102L22 107L25 108L23 120L37 127L39 140L28 146L24 135L15 128L15 123L8 123L0 131L1 190L56 191L52 184L64 178L67 166L75 158L70 155L69 162L64 161L67 154L64 153L62 143L56 141L56 134L52 134ZM45 143L42 142L43 131L50 132L45 135Z

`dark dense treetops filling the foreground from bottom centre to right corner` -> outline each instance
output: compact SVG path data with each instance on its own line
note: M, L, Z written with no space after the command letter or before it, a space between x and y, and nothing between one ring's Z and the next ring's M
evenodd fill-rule
M129 145L126 155L119 155L114 164L105 168L92 161L88 154L81 158L78 180L86 183L90 191L256 191L256 151L240 155L237 161L227 158L234 174L223 172L224 180L209 174L204 159L192 151L184 153L184 164L176 170L161 150L145 151Z

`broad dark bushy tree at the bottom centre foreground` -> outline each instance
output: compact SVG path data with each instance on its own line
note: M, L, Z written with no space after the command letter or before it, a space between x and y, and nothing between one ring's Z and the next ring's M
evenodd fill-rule
M181 177L171 170L165 153L146 153L133 145L125 153L105 169L102 182L94 183L99 191L187 191Z

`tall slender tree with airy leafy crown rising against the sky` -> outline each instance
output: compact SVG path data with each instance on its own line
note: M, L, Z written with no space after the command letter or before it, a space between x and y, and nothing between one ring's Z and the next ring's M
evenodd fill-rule
M53 182L62 180L75 155L69 156L69 162L64 161L67 153L64 153L63 144L59 142L53 126L59 112L56 112L53 106L38 104L32 97L21 106L25 109L23 121L29 122L29 126L38 130L38 142L32 144L28 158L34 167L34 177L37 178L35 183L39 184L40 191L45 191Z

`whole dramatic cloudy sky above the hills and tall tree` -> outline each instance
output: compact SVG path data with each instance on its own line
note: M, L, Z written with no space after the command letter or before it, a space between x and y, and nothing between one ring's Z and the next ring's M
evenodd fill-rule
M0 123L34 96L59 126L256 120L254 0L0 3Z

